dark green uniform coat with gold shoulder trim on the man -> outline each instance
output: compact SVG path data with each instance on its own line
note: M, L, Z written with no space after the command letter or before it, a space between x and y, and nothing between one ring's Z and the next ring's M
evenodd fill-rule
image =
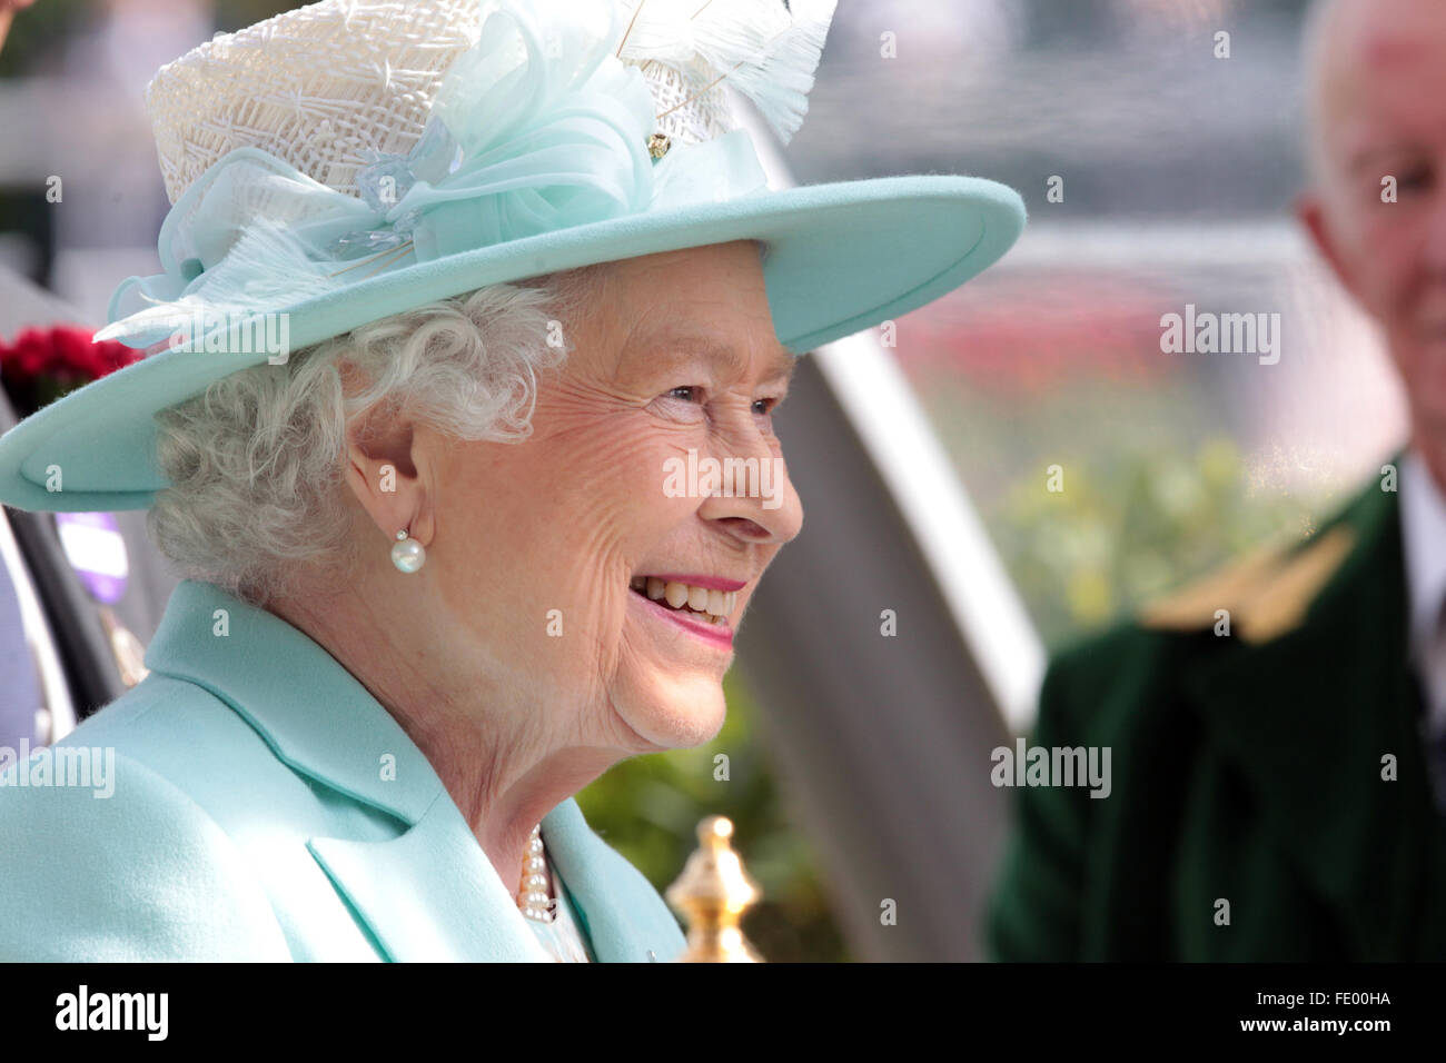
M1015 793L993 957L1446 959L1397 499L1051 662L1030 745L1108 746L1109 795Z

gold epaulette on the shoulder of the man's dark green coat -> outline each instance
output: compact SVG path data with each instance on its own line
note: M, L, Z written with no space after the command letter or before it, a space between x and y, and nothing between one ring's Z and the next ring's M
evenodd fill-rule
M1252 644L1270 642L1300 625L1353 545L1355 532L1338 525L1306 545L1257 550L1145 606L1138 620L1157 631L1202 631L1213 628L1218 610L1225 609L1232 635Z

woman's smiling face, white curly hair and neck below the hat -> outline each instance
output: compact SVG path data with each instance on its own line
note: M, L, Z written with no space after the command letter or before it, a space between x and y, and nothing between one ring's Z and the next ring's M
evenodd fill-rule
M782 464L763 250L493 285L224 377L158 417L155 539L188 579L324 646L493 865L523 866L519 824L723 723L733 629L801 512L787 479L703 499L664 490L661 470L700 450ZM729 343L678 357L671 340L628 341L661 315ZM425 551L419 580L398 584L379 548L393 529Z

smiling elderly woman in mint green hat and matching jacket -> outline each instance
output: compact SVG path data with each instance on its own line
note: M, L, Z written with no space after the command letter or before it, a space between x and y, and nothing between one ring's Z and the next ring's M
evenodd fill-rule
M795 354L1022 221L768 191L720 82L787 137L831 3L688 7L325 0L158 74L165 273L101 333L150 353L0 440L0 498L149 506L189 579L149 675L0 775L0 957L680 953L573 794L722 725L803 524L742 476Z

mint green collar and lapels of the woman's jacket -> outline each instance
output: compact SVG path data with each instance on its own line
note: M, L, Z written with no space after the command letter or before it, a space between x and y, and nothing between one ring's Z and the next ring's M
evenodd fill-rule
M382 842L307 842L392 959L549 959L427 756L304 632L213 584L185 580L146 667L205 687L289 768L406 824ZM548 813L542 836L599 960L646 960L649 949L671 959L668 926L649 910L661 904L656 894L593 833L574 798Z

